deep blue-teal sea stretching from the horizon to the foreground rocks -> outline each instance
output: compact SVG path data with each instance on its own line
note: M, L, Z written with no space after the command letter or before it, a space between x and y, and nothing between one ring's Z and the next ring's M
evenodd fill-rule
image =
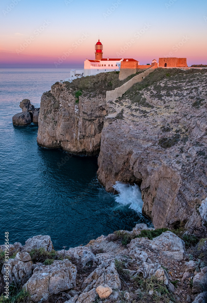
M42 234L51 236L55 249L62 249L118 229L131 230L136 223L150 225L126 201L122 204L120 196L107 193L99 184L97 157L68 157L60 166L68 154L39 147L37 125L12 125L22 99L39 107L42 93L68 77L69 69L0 71L0 244L9 231L10 243L24 245L27 238Z

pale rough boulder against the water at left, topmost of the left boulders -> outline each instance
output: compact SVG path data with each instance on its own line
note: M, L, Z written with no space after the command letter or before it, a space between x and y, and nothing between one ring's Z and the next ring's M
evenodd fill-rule
M51 241L50 236L34 236L32 238L29 238L25 245L22 248L22 251L30 252L33 249L39 249L44 248L45 251L52 251L53 250L53 244Z

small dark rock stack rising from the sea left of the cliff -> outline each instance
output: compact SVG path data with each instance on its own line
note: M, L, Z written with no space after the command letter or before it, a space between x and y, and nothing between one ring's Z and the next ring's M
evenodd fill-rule
M19 105L22 108L22 112L15 114L12 117L13 125L28 125L31 122L38 124L38 116L40 108L35 108L34 105L31 105L29 99L24 99L20 102Z

